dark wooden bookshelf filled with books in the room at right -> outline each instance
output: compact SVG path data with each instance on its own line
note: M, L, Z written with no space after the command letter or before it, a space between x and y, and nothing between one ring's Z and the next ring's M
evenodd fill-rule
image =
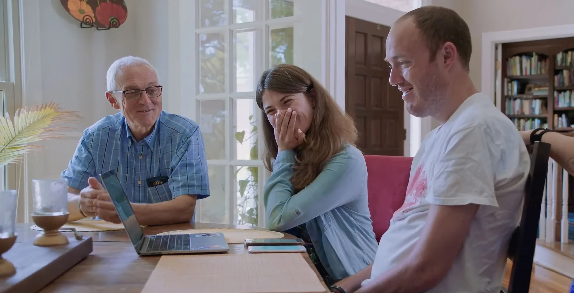
M574 38L502 44L501 110L518 130L574 130Z

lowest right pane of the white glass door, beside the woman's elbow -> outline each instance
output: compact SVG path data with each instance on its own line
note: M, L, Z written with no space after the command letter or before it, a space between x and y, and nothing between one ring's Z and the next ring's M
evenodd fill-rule
M235 167L235 192L237 194L237 225L256 226L259 217L258 167Z

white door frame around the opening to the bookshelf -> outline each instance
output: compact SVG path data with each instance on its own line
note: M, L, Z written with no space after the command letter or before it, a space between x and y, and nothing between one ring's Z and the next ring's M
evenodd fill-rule
M482 34L481 91L494 103L495 46L506 42L546 40L574 37L574 24L545 26L542 28L502 30ZM498 106L498 105L497 105Z

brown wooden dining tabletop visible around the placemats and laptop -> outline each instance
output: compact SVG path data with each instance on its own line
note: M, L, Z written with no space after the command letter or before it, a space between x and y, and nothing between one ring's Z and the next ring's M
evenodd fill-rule
M34 239L40 231L30 229L33 224L16 224L17 243ZM210 229L240 228L253 229L250 226L224 225L212 223L185 223L176 225L145 226L145 235L161 232ZM257 228L259 229L259 228ZM63 232L73 237L71 232ZM85 237L92 237L94 249L90 255L77 263L63 275L45 286L40 292L141 292L161 256L138 256L134 246L127 237L126 231L80 232ZM284 233L284 238L294 236ZM229 244L228 253L247 253L244 244ZM324 292L329 292L307 253L301 253L309 267L313 269Z

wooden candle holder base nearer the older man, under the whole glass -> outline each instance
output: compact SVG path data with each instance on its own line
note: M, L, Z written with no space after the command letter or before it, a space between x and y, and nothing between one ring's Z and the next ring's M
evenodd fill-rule
M59 216L44 216L32 214L32 220L38 227L44 229L36 235L34 245L37 246L54 246L68 244L68 237L63 235L58 229L66 224L68 221L69 213L61 214Z

